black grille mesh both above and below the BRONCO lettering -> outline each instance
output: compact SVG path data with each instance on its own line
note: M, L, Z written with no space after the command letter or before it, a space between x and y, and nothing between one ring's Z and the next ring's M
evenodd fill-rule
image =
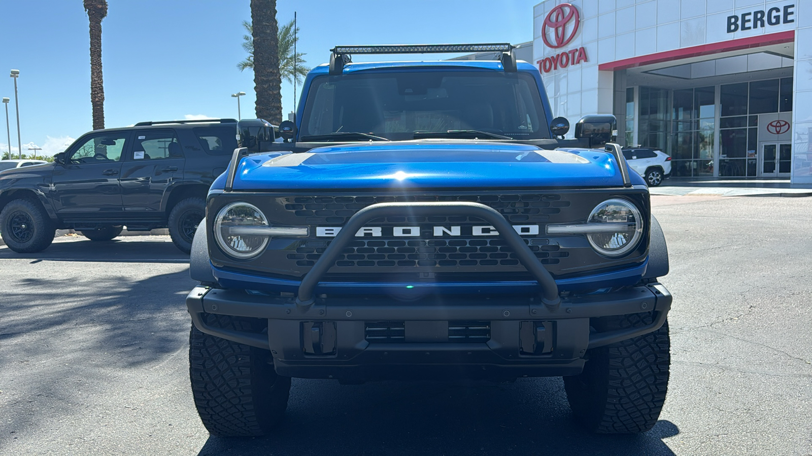
M486 204L501 213L508 222L544 223L551 215L561 213L570 201L560 195L513 194L482 196L291 196L285 199L285 210L296 217L303 217L310 225L330 224L342 226L357 211L370 204L391 202L467 201ZM459 236L453 239L432 239L433 225L482 225L477 217L382 217L369 222L368 226L397 226L420 224L420 239L391 239L389 237L365 238L352 241L336 261L337 267L410 267L410 266L516 266L519 260L503 239L482 239L476 236ZM416 236L417 238L417 236ZM549 245L548 239L523 238L530 250L544 265L557 265L569 253L559 246ZM287 253L287 260L296 266L309 267L330 244L330 240L307 240Z

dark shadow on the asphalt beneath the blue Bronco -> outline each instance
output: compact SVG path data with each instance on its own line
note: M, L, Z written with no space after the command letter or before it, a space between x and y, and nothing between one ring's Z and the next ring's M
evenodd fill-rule
M673 455L663 439L675 424L650 432L595 435L572 419L560 378L512 384L382 382L338 385L294 381L287 419L262 438L209 437L214 454L604 454Z

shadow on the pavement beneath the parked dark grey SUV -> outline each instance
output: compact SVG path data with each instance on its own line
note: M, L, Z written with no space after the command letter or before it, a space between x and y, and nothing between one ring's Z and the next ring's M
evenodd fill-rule
M7 246L0 246L0 260L188 263L188 254L180 252L175 244L156 240L152 236L143 238L147 239L113 239L104 242L94 242L84 237L58 239L50 247L37 253L17 253Z

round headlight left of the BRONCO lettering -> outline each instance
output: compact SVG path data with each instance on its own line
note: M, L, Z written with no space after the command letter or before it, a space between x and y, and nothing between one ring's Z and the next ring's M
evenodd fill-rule
M217 218L214 219L214 239L228 255L251 258L265 250L268 236L232 233L231 229L255 226L268 226L268 220L261 210L253 204L231 203L220 209Z

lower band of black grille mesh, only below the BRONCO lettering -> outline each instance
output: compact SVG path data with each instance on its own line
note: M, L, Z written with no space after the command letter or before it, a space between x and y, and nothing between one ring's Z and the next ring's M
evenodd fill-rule
M557 265L569 256L547 239L524 239L544 265ZM297 266L313 266L330 241L307 241L288 253ZM335 265L338 267L387 266L496 266L518 265L516 253L504 239L358 239L345 248Z

